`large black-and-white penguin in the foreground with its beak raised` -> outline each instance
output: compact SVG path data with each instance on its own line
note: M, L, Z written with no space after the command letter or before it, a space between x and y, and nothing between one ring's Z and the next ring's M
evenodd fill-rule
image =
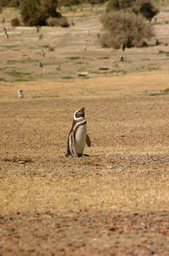
M85 119L85 108L74 112L72 128L68 134L68 152L65 155L81 157L84 153L85 142L88 147L91 146L90 137L87 135L87 121Z

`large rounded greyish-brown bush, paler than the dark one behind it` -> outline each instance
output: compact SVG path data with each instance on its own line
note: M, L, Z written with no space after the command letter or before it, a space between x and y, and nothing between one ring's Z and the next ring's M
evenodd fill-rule
M101 36L103 47L143 47L154 36L152 26L142 15L115 12L101 16L106 33Z

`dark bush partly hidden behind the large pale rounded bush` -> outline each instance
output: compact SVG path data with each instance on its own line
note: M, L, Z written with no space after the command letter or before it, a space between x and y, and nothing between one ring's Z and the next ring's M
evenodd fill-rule
M159 13L159 9L156 8L150 0L139 0L134 4L132 8L135 14L142 14L146 19L151 20L156 14Z

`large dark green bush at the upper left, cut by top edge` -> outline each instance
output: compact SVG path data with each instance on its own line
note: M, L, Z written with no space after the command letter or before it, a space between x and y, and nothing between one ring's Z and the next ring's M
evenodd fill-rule
M60 17L57 0L23 0L21 17L25 25L46 25L49 17Z

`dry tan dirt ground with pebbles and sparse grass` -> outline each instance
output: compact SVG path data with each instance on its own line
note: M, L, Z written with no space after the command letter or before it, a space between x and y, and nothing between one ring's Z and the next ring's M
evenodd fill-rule
M10 19L15 12L5 11ZM162 21L166 14L159 14L161 23L156 25L164 42L169 41L164 30L168 25ZM116 69L125 68L126 75L89 72L88 79L78 79L79 72L89 70L74 68L75 60L67 62L68 57L81 61L83 56L84 67L98 71L112 66L121 53L101 49L91 39L92 50L85 53L73 39L73 49L68 47L72 32L81 38L80 28L99 29L97 17L74 16L77 28L66 29L68 35L60 28L41 28L49 36L42 40L53 38L65 46L63 52L62 47L46 51L41 59L52 63L53 58L53 64L44 64L42 70L35 61L46 42L39 40L35 28L11 28L14 38L9 41L0 35L1 256L169 255L169 94L164 92L169 74L168 58L158 54L167 46L128 49L125 54L134 62L116 60ZM60 31L57 38L54 30ZM7 47L10 43L19 47ZM62 70L49 74L57 53ZM111 58L102 58L110 53ZM158 69L150 72L151 63ZM15 71L11 75L7 70ZM25 98L17 98L19 89ZM92 143L85 153L90 156L65 158L74 111L84 106Z

